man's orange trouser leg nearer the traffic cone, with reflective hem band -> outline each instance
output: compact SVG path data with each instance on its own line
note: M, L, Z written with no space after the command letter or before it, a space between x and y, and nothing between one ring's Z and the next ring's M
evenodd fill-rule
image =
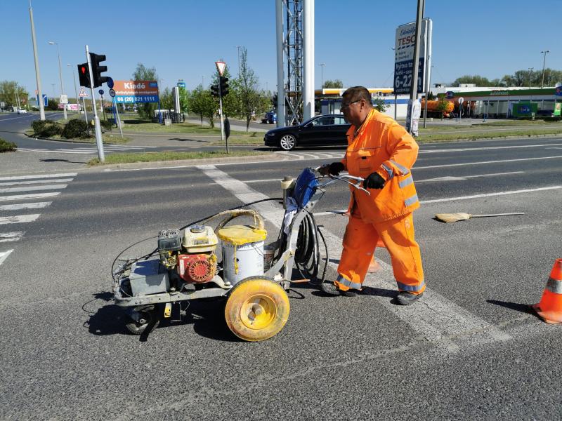
M391 255L392 269L398 289L410 293L422 293L424 269L421 265L419 246L414 240L412 213L400 218L375 224L386 250Z

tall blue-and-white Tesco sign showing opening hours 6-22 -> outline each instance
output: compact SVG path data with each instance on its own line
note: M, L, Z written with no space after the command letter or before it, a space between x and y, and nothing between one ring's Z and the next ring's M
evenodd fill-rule
M425 92L431 79L431 19L421 21L421 44L417 72L417 91ZM416 44L416 22L400 25L396 28L394 46L394 93L410 93L412 89L412 72L414 69L414 47Z

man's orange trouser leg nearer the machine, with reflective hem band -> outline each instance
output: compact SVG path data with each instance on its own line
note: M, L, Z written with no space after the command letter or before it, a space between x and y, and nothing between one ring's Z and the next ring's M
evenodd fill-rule
M338 279L334 282L341 290L361 289L379 234L372 224L351 216L344 235L344 250L338 266ZM345 281L340 281L345 279Z

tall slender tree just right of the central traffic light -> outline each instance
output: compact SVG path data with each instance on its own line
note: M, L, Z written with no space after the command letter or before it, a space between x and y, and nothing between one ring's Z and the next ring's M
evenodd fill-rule
M248 66L248 55L246 48L240 49L240 77L237 80L239 89L240 114L246 120L246 131L249 130L251 119L261 112L265 112L269 107L269 99L263 91L258 91L258 76Z

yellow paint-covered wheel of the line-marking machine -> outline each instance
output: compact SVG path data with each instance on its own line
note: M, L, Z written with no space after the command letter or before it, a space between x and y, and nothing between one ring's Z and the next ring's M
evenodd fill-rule
M289 297L274 281L252 276L233 288L224 315L240 339L266 340L277 335L289 319Z

